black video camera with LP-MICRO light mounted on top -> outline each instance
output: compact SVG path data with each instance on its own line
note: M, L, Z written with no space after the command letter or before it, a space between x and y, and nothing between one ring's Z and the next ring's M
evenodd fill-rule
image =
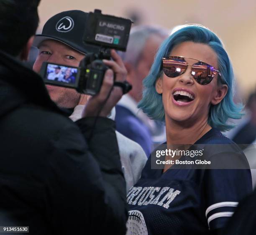
M84 29L84 45L95 45L97 53L88 53L79 67L44 62L40 74L46 84L75 88L79 93L95 95L100 91L105 71L102 60L110 60L110 49L126 51L132 21L112 15L103 15L101 10L90 12ZM61 71L66 76L58 76ZM54 74L55 72L55 74ZM131 90L128 82L118 83L124 93Z

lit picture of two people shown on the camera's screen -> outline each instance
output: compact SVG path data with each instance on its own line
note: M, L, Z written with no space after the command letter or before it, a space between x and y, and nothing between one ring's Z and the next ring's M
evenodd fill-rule
M49 63L47 65L46 73L47 80L75 84L77 77L77 68Z

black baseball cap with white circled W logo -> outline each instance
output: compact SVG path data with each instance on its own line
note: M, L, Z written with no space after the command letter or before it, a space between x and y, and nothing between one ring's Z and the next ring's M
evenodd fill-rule
M42 41L53 39L83 54L99 52L99 47L85 45L82 40L86 33L84 29L88 15L81 10L69 10L54 15L45 23L42 34L36 34L33 46L38 48Z

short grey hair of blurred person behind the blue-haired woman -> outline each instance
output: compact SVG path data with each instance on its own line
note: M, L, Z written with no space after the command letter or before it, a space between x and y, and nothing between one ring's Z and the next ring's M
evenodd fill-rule
M136 67L141 57L146 41L152 36L157 35L162 38L169 36L169 30L161 26L139 25L131 29L126 52L120 52L124 62Z

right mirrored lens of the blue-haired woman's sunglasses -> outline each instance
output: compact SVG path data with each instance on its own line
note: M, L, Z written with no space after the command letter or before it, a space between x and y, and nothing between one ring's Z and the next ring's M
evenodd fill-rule
M194 64L191 73L197 83L201 85L209 84L216 74L214 68L206 64Z

